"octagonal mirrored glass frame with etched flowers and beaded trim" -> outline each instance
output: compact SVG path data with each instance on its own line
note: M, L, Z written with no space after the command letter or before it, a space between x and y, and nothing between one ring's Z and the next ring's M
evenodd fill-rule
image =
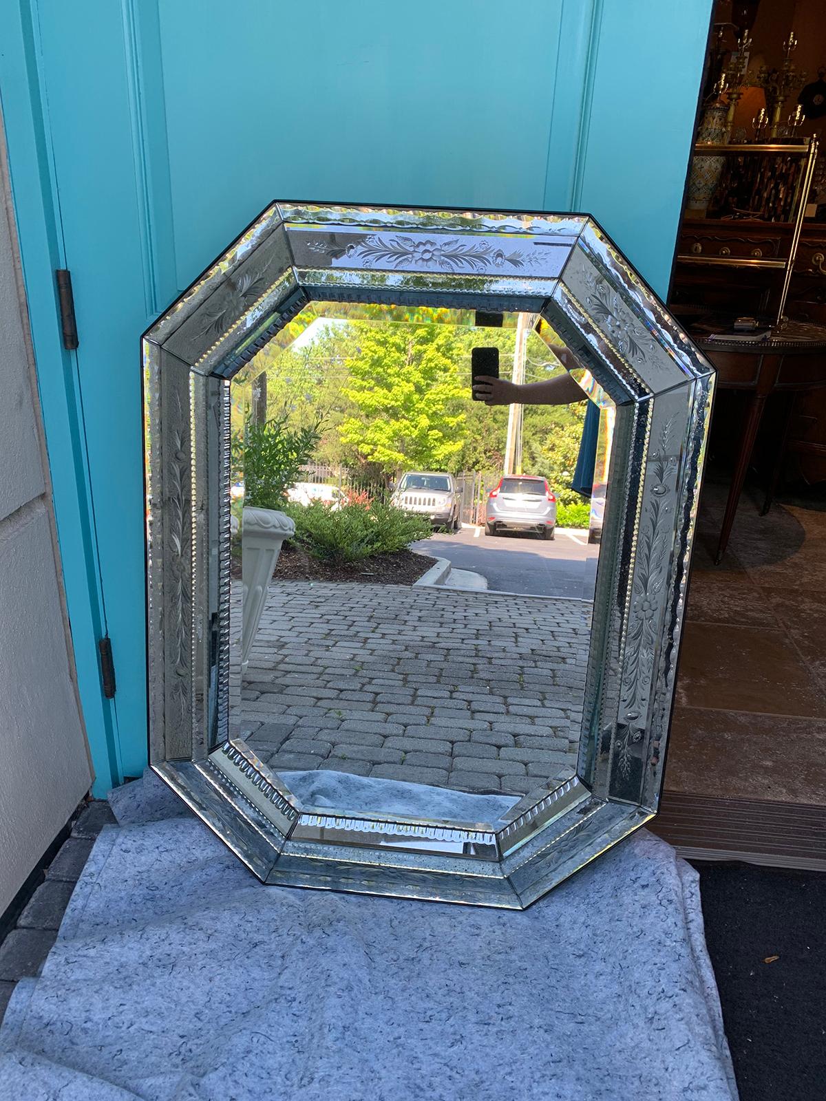
M230 737L229 380L313 301L539 314L616 405L577 775L502 829L303 806ZM273 203L142 359L150 763L259 879L524 908L652 818L714 369L591 217Z

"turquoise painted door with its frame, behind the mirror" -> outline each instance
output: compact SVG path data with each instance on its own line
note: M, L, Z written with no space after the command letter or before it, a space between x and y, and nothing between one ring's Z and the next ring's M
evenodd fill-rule
M710 0L523 0L502 12L493 0L0 8L0 95L98 794L145 763L138 338L267 203L585 210L665 293ZM72 272L75 351L59 344L55 268Z

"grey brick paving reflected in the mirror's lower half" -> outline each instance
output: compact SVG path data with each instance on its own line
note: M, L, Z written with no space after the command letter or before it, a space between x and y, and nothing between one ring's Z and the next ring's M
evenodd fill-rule
M575 771L591 606L403 586L270 587L240 735L274 770L525 795Z

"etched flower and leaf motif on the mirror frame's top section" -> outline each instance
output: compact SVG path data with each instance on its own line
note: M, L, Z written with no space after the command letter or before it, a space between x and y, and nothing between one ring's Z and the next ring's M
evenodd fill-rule
M482 272L488 268L517 271L542 263L543 255L533 249L504 249L490 241L448 238L415 240L401 233L373 233L361 241L345 243L336 235L307 241L311 252L340 260L358 261L366 268L387 264L393 269L421 265L446 272ZM544 258L546 259L546 258Z

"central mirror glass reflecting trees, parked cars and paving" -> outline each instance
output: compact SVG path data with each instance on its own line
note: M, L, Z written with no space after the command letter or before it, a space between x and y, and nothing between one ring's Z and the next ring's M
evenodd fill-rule
M230 737L304 808L499 828L576 775L615 410L492 320L315 302L230 383ZM474 401L479 348L578 400Z

